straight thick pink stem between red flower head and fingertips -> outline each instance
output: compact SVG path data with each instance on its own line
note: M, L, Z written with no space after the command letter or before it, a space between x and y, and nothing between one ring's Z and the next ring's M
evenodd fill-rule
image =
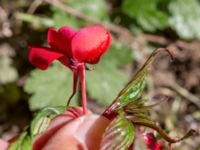
M87 114L87 96L86 96L85 64L84 63L80 64L79 70L80 70L80 79L81 79L83 114Z

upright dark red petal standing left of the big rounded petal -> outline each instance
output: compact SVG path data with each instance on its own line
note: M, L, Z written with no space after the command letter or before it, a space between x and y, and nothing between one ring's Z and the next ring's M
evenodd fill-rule
M67 56L71 56L71 39L76 31L70 27L62 27L58 31L48 29L48 43L49 45Z

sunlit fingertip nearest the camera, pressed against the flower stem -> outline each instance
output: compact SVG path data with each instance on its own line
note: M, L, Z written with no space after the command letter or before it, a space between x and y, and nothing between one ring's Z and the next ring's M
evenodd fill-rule
M40 149L34 150L98 150L109 120L89 114L59 129Z

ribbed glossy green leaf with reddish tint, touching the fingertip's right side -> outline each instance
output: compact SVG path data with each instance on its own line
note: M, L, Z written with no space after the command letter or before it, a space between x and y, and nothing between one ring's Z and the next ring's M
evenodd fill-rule
M106 128L100 150L127 150L133 143L135 129L123 114L119 114Z

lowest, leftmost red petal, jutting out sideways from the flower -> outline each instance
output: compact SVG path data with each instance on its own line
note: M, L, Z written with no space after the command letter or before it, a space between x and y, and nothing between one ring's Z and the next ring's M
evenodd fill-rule
M36 67L45 70L55 59L62 57L63 54L53 52L46 47L29 47L29 61Z

